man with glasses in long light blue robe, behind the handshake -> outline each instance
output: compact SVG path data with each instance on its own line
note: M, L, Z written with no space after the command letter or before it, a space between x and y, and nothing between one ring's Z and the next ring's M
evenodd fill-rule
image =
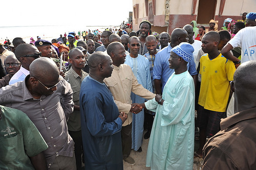
M124 64L129 65L133 74L145 89L153 92L151 74L150 74L150 62L148 59L139 54L140 50L140 39L136 36L132 36L129 39L128 47L130 48L130 55L126 56ZM144 103L145 99L132 93L131 99L133 103ZM143 136L143 124L144 124L144 109L140 114L135 114L133 116L133 134L132 134L132 149L134 151L141 152L142 136Z

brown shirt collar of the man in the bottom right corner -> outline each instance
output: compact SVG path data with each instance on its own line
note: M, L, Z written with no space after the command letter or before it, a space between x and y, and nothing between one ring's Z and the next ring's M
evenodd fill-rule
M246 119L255 118L256 117L256 107L243 110L236 114L233 114L230 117L224 118L221 120L221 130L224 130L238 122L241 122Z

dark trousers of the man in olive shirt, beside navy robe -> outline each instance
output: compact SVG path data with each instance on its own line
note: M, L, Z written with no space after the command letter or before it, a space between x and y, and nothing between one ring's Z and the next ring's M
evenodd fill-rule
M70 136L75 142L74 152L76 157L77 170L82 169L82 132L81 131L69 131Z

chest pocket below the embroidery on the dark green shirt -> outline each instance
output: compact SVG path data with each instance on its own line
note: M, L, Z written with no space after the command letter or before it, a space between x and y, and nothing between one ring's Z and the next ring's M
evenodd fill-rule
M17 134L0 140L0 160L11 162L16 159L17 155L20 155L21 149L24 148L21 138L22 136Z

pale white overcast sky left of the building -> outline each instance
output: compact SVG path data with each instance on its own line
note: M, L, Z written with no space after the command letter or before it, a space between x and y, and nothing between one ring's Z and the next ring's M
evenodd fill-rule
M133 10L133 0L12 0L1 2L0 27L10 26L120 26Z

